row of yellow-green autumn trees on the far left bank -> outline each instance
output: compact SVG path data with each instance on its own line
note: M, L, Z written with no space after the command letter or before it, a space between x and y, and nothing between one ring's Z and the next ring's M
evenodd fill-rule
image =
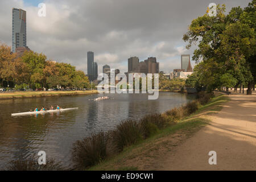
M28 84L30 88L73 87L88 88L89 80L84 72L67 63L46 60L42 53L24 52L20 58L11 53L11 48L0 45L0 78L19 85Z

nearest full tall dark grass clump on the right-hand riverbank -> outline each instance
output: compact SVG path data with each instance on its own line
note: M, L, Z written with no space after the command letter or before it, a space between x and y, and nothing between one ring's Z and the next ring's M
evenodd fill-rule
M106 158L109 134L100 132L83 140L77 140L72 148L75 169L84 169Z

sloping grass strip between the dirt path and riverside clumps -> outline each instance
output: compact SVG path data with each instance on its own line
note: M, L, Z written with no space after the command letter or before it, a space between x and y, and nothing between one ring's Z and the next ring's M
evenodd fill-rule
M212 98L208 104L200 105L195 113L172 122L152 137L124 148L120 154L104 160L89 170L158 170L162 167L165 156L172 154L176 146L208 125L208 116L221 110L222 104L228 100L227 96Z

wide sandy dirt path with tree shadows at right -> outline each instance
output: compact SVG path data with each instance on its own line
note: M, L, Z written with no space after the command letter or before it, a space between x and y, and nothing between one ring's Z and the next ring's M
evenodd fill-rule
M212 122L169 152L159 170L256 170L256 94L230 95ZM209 151L217 152L210 165Z

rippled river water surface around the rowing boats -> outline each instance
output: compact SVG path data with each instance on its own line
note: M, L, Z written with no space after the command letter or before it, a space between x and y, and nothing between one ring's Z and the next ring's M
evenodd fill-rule
M124 119L162 113L193 99L186 94L160 92L158 100L147 100L147 94L106 94L109 100L91 100L100 96L102 94L0 101L0 169L10 160L35 158L41 150L46 151L47 158L68 165L76 140L101 130L112 130ZM79 107L79 110L11 117L11 113L51 105Z

